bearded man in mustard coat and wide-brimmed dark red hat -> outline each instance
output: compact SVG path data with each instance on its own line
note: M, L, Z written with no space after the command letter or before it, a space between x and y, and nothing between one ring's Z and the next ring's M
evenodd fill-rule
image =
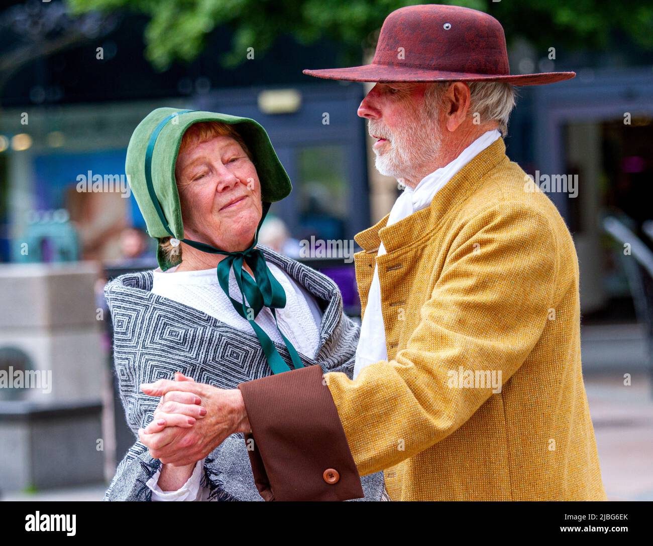
M392 12L371 65L305 72L376 82L358 115L377 169L406 186L356 236L355 378L310 366L238 391L143 386L193 391L214 415L142 442L187 464L251 429L266 500L360 497L358 477L379 470L392 500L605 499L573 241L501 138L513 85L575 74L510 75L498 21L438 5Z

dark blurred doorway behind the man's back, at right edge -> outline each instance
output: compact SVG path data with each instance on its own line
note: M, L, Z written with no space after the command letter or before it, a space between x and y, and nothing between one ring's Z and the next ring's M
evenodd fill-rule
M575 198L564 193L549 197L576 245L583 322L633 322L626 277L614 263L614 247L601 219L615 211L640 225L653 218L648 197L653 170L650 68L580 70L564 85L536 89L533 104L537 168L578 175Z

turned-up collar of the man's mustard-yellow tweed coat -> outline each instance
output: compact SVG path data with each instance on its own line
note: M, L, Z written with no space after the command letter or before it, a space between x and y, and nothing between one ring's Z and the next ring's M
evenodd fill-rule
M407 242L416 241L434 231L439 221L456 203L462 203L483 176L502 160L507 160L505 143L499 138L470 160L436 193L428 207L411 214L392 226L387 226L389 214L374 226L355 235L354 239L365 252L375 252L381 241L387 252L399 249ZM428 229L424 230L424 226Z

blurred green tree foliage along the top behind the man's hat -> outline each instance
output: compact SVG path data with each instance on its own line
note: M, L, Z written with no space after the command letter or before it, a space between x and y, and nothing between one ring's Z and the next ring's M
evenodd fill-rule
M491 13L508 40L526 37L543 55L549 47L606 48L614 33L653 48L653 3L605 0L440 0ZM232 30L232 48L221 53L225 66L246 60L247 48L264 53L281 35L301 44L328 38L342 44L347 61L360 61L374 46L378 29L392 10L415 2L398 0L67 0L75 13L131 10L150 18L146 57L159 70L173 61L191 61L216 27Z

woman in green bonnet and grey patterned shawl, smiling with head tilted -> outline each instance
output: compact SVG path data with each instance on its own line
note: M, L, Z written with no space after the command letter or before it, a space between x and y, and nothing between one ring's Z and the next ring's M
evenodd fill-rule
M353 372L358 327L330 279L257 246L272 202L291 183L252 119L158 108L129 142L125 170L159 269L105 288L125 416L137 435L193 427L200 397L138 390L161 378L222 389L306 365ZM158 405L157 405L158 402ZM197 463L162 464L140 441L119 463L105 500L262 500L244 432ZM380 500L382 474L361 479Z

